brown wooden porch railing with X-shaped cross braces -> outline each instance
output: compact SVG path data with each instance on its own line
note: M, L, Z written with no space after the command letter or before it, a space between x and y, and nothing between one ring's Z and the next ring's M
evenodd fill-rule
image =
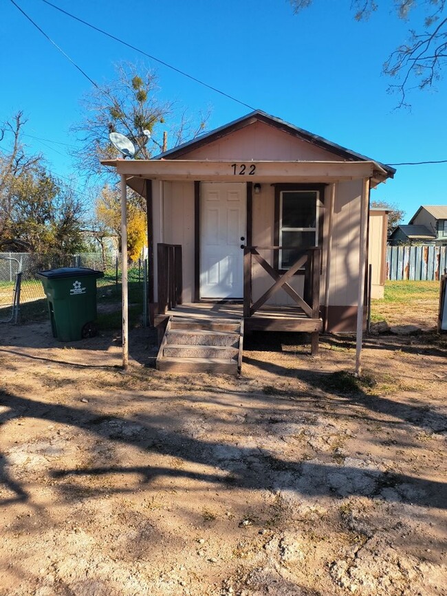
M303 309L309 318L320 318L320 269L321 248L314 247L307 250L307 254L298 258L290 269L280 274L259 254L259 250L297 250L295 247L283 246L246 246L243 248L243 316L251 317L267 300L279 289L283 289ZM252 303L252 268L253 262L259 263L274 279L274 284L264 292L261 298ZM304 291L300 296L290 285L292 276L305 267Z

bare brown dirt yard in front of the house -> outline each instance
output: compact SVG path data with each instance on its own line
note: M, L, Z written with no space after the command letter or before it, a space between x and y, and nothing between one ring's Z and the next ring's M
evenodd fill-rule
M0 334L2 595L447 593L445 335L367 339L360 382L352 338L258 335L237 379Z

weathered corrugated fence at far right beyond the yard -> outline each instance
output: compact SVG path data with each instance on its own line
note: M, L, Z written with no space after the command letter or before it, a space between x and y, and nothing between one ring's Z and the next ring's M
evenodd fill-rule
M386 247L386 279L439 280L447 267L447 246Z

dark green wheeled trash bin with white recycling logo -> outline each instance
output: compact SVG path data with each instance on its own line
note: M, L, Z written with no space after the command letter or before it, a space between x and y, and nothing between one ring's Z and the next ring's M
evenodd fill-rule
M104 274L87 267L61 267L36 275L47 296L54 337L74 342L96 335L96 280Z

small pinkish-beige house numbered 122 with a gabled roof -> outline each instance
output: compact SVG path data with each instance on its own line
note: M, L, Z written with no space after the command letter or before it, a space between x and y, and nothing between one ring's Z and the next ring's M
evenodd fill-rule
M240 300L246 331L307 331L313 347L323 329L358 331L369 190L394 168L262 111L102 164L146 197L155 324L175 302Z

